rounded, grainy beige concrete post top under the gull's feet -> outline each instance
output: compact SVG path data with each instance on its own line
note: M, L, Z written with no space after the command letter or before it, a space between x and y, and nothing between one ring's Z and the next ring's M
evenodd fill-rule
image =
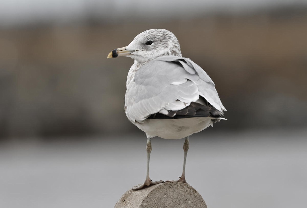
M192 186L175 181L160 183L141 190L127 190L115 204L114 208L124 207L207 208L204 199Z

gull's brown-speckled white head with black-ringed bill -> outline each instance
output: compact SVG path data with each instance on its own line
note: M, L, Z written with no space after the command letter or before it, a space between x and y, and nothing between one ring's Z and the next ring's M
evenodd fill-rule
M126 56L144 63L167 55L181 57L177 38L166 29L150 29L138 34L128 46L111 51L108 58Z

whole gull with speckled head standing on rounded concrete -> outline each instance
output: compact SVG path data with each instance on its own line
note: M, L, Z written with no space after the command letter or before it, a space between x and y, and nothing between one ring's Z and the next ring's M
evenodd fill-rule
M226 111L208 74L189 58L183 58L175 35L165 29L150 29L138 34L126 47L111 51L107 58L126 56L134 59L127 76L125 113L147 136L145 182L133 190L164 181L149 177L151 139L185 138L182 175L189 136L224 119Z

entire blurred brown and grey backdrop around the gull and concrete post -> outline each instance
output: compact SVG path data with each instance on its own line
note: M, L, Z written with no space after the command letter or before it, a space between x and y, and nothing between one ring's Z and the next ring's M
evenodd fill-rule
M143 181L146 137L123 110L133 60L107 55L155 28L176 35L227 108L191 136L187 180L208 207L303 206L306 1L0 5L0 207L112 207ZM153 141L153 180L181 175L182 144Z

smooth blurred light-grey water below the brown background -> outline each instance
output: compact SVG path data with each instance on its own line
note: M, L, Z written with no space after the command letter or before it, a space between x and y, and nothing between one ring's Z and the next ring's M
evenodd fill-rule
M306 134L307 129L192 135L187 181L210 208L304 207ZM113 207L143 182L145 135L84 140L2 145L0 207ZM153 139L151 179L181 175L183 142Z

